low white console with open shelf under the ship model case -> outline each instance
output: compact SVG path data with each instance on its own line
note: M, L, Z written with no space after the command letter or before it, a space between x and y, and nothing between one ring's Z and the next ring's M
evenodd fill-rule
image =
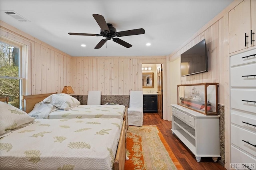
M176 135L196 161L201 157L220 157L220 116L207 116L177 104L172 104L172 134Z

